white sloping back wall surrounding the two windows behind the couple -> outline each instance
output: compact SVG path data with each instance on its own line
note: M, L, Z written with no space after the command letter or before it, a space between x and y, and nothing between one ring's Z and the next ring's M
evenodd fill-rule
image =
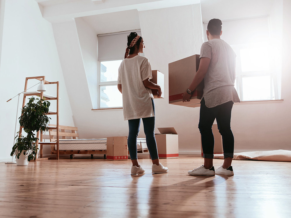
M287 5L288 2L284 1L284 4ZM288 26L290 15L288 12L284 12L283 15L285 26ZM219 14L215 17L219 17ZM200 7L192 5L140 11L139 19L146 46L145 56L149 58L152 69L165 74L165 84L168 84L168 63L200 52L203 42ZM85 56L82 56L83 46L80 48L81 29L76 30L74 21L53 24L53 27L74 121L79 128L80 137L104 138L127 135L127 121L123 121L122 110L91 111L92 103L86 79L86 66L84 67L86 60ZM288 31L287 28L285 30L287 36L290 35ZM84 33L86 32L88 30ZM290 51L290 46L284 48L285 51L287 49ZM231 125L235 135L236 152L290 150L289 72L290 64L285 60L282 72L283 102L236 103L233 106ZM186 87L188 85L185 84ZM164 92L165 99L155 99L156 127L175 127L179 134L179 152L199 153L199 108L169 105L167 85ZM142 127L140 137L144 137Z

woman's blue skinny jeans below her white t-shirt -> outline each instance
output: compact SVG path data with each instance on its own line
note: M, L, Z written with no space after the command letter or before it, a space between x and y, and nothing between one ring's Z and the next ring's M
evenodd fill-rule
M155 113L155 105L152 100L152 109ZM129 133L127 137L127 147L131 160L137 160L137 146L136 140L139 135L139 126L141 124L141 119L143 119L143 129L145 132L146 144L148 146L148 151L150 152L150 157L152 160L159 158L157 150L157 142L155 138L155 117L146 117L139 119L129 119L128 127Z

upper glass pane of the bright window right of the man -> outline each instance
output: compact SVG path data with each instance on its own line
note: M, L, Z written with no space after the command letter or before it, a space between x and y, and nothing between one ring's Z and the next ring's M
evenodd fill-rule
M269 55L267 47L240 49L242 72L269 70Z

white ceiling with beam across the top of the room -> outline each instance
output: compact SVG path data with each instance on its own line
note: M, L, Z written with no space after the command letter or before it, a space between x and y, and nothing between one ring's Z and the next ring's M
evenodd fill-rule
M51 22L82 17L97 34L139 29L138 10L201 4L202 21L269 15L275 0L35 0ZM89 16L88 16L89 15Z

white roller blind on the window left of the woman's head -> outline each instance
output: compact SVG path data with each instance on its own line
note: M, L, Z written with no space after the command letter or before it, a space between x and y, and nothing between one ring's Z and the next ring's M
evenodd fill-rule
M135 31L141 36L141 31ZM98 60L122 60L127 47L127 35L118 33L114 35L98 36Z

